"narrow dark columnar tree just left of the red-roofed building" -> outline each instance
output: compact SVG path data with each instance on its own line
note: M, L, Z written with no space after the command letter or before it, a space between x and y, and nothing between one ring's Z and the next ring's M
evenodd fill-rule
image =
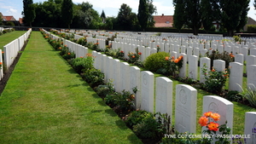
M140 0L137 19L142 27L143 32L145 28L148 26L148 3L147 0Z

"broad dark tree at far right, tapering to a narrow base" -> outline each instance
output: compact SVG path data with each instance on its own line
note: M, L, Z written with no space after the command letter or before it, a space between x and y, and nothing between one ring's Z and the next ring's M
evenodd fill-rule
M219 2L220 9L222 9L221 21L230 37L234 35L234 31L241 20L241 1L247 0L220 0Z

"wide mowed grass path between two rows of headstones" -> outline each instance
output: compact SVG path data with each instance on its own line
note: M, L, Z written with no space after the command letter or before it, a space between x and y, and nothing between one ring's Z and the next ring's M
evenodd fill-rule
M40 32L0 96L0 143L141 143Z

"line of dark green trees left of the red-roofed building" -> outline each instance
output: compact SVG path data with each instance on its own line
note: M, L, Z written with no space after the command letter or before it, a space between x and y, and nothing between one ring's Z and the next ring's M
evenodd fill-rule
M153 0L140 0L138 14L131 12L125 3L120 6L117 17L106 17L93 9L89 2L75 4L72 0L48 0L33 3L23 0L23 22L26 26L63 27L106 30L145 30L154 26Z

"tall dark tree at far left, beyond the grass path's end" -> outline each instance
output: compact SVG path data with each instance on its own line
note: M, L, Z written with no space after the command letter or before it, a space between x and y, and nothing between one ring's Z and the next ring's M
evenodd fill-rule
M23 20L32 26L32 22L36 18L35 6L32 0L23 0L23 11L21 12L23 15Z

